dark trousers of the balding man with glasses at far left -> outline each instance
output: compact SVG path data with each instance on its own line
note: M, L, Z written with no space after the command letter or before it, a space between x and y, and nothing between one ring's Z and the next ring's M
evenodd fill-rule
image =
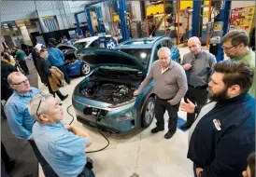
M45 160L45 158L41 155L40 151L38 150L36 143L34 141L28 141L36 155L36 158L40 165L42 166L42 169L44 171L44 174L46 177L58 177L58 174L51 169L49 163Z

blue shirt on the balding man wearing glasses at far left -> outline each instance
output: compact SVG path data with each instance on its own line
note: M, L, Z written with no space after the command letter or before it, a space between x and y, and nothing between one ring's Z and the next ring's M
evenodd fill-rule
M5 105L5 113L9 128L17 138L29 140L32 138L32 127L35 119L30 116L28 104L37 94L42 94L39 89L31 88L31 90L21 95L14 91L9 97Z

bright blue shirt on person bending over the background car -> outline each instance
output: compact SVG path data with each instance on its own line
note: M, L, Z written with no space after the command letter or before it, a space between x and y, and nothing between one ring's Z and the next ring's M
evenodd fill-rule
M64 53L58 48L50 48L48 50L48 62L52 66L64 65Z

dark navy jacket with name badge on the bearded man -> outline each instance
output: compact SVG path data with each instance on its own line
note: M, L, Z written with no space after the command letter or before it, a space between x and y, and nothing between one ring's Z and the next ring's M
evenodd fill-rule
M255 99L242 94L218 102L199 120L192 132L188 158L203 169L202 177L240 177L254 150Z

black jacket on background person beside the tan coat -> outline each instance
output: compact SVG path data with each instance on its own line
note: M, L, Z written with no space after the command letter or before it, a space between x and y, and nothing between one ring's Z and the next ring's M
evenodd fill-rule
M49 65L48 62L39 57L36 59L36 70L41 78L42 83L48 84L49 83L49 75L50 75L50 70L49 70Z

